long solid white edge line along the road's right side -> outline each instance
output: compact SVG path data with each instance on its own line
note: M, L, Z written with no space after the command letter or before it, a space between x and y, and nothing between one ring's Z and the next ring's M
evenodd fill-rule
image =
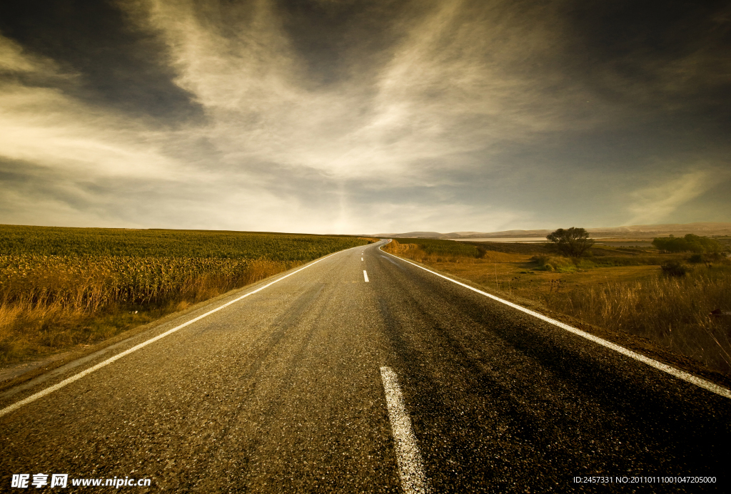
M380 247L379 247L379 249L380 249ZM385 251L382 251L382 252L385 252ZM731 390L727 390L725 387L716 385L710 381L706 381L705 379L694 376L693 374L690 374L686 371L681 371L679 368L675 368L673 366L668 366L665 363L658 362L654 358L645 357L645 355L641 355L640 353L632 352L632 350L627 350L626 348L620 347L618 344L612 343L611 341L607 341L605 339L599 338L599 336L594 336L593 334L586 333L585 331L581 331L580 329L573 328L572 326L569 326L568 324L561 323L560 321L551 319L550 317L547 317L543 314L539 314L538 312L533 312L533 311L531 311L531 309L526 309L525 307L521 307L518 304L513 304L512 302L503 300L502 298L491 295L490 293L483 292L482 290L477 290L477 288L471 287L469 285L465 285L464 283L458 282L452 278L448 278L448 277L444 276L443 274L435 273L434 271L431 271L431 269L426 269L423 266L419 266L418 264L414 264L409 260L399 258L398 256L390 254L389 252L385 252L385 253L390 256L393 256L396 259L403 260L404 263L409 263L412 266L416 266L419 269L428 271L431 274L436 274L436 276L438 276L440 278L448 279L452 283L456 283L457 285L461 285L465 288L468 288L469 290L472 290L473 292L480 293L481 295L492 298L493 300L499 301L502 304L511 306L513 309L518 309L521 312L525 312L526 314L530 314L531 316L538 317L540 320L544 320L546 323L553 324L555 326L558 326L559 328L569 331L570 333L574 333L577 336L581 336L582 338L586 338L590 341L594 341L594 343L600 344L600 345L602 345L602 347L610 348L611 350L614 350L615 352L619 352L622 355L626 355L629 358L634 358L635 360L645 363L648 366L654 367L654 368L658 369L659 371L667 372L667 374L670 374L671 376L677 377L678 379L683 379L683 381L690 382L691 384L694 384L698 387L702 387L704 390L711 391L711 393L716 393L717 395L724 396L725 398L731 398Z

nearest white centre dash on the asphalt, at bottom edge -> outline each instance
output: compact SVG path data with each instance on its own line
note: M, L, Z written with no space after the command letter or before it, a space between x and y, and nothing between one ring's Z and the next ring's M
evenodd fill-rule
M401 477L401 487L406 494L425 494L428 492L428 488L424 466L412 430L411 419L404 406L401 388L398 387L398 377L390 367L382 367L381 380L386 392L388 418L391 422L391 431L396 446L396 462L398 463L398 476Z

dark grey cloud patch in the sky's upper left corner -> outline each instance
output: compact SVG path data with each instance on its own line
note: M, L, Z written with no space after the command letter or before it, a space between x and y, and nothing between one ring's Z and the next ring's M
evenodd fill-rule
M110 1L0 2L0 34L78 75L66 83L28 82L59 85L75 98L133 115L171 122L202 117L193 95L175 85L177 74L156 33L132 26Z

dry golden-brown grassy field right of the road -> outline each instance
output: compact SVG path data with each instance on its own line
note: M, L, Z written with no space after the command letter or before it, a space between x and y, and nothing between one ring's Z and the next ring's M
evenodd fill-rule
M610 331L651 339L731 374L731 263L725 256L699 259L690 253L594 247L591 257L569 259L544 244L450 245L457 243L398 239L385 250L516 303L529 301ZM669 261L686 274L665 274L661 265Z

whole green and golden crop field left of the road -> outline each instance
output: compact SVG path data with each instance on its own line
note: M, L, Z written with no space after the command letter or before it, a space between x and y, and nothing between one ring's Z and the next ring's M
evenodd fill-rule
M0 363L88 345L323 255L352 236L0 225Z

